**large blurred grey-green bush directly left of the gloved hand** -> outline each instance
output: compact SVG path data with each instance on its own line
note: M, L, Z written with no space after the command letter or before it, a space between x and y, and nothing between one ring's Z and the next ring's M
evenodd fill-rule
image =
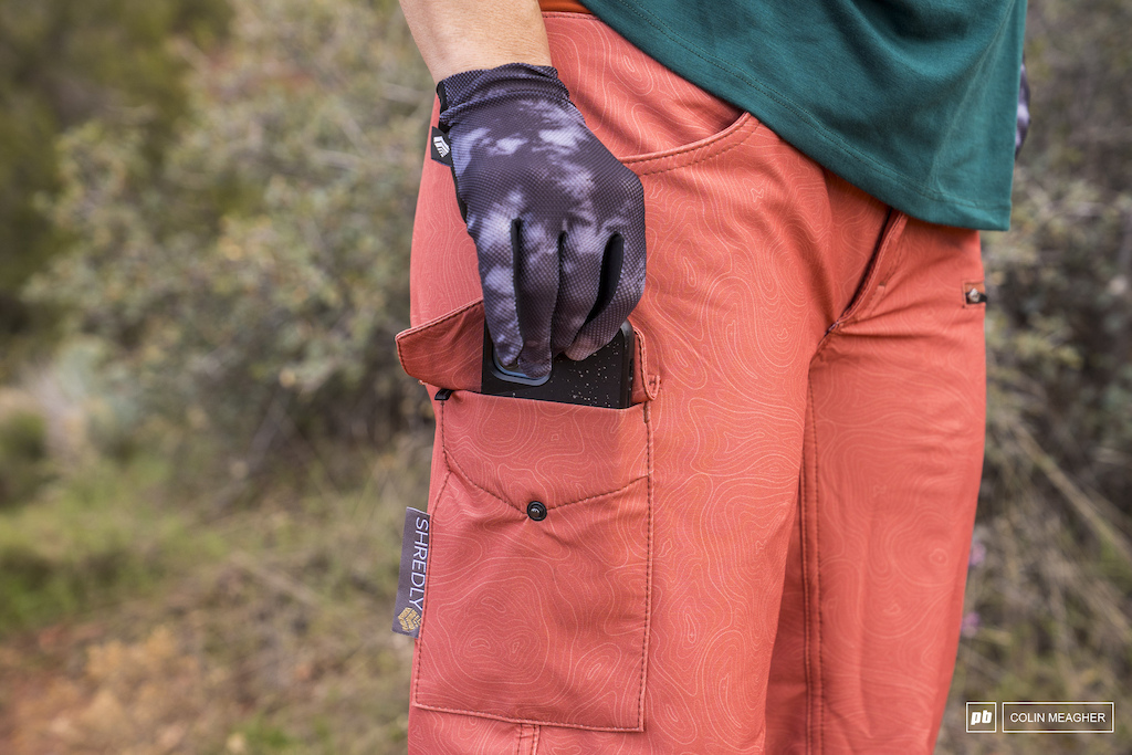
M28 288L111 344L158 414L255 471L295 430L380 439L409 381L408 251L430 81L392 2L233 3L191 53L164 160L145 119L60 141L51 217L74 240Z

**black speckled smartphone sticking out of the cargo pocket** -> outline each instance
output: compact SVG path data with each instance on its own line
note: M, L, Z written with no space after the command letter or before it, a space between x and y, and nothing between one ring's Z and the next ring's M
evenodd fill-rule
M575 362L559 354L550 363L550 375L541 380L508 370L500 362L483 327L483 372L480 392L492 396L556 401L607 409L625 409L633 392L633 326L626 320L614 340Z

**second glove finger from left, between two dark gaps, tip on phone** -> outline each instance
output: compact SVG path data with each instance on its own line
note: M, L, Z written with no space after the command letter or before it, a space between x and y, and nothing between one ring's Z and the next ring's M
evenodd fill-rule
M522 349L518 370L533 378L550 372L550 321L558 297L558 239L532 222L512 223L512 259Z

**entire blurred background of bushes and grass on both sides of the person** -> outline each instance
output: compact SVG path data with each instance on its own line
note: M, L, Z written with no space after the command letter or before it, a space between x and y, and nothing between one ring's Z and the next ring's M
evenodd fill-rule
M966 735L967 700L1132 704L1130 16L1030 3L940 752L1032 748ZM5 3L0 101L5 752L403 752L430 418L392 338L431 83L395 3ZM1127 752L1120 718L1043 744Z

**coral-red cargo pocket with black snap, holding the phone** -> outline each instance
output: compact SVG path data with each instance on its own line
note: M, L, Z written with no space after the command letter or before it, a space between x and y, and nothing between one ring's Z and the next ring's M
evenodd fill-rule
M468 327L462 317L414 328L411 341L461 341ZM457 335L421 335L429 325ZM429 507L414 705L544 726L643 730L649 401L658 383L643 367L641 335L634 372L644 378L643 389L634 395L642 403L628 409L488 396L466 386L436 403L443 463L434 473L443 477L434 480ZM420 357L409 342L398 343L406 366ZM447 387L438 364L470 358L449 350L445 359L424 361L432 366L428 383ZM466 366L454 372L469 374Z

